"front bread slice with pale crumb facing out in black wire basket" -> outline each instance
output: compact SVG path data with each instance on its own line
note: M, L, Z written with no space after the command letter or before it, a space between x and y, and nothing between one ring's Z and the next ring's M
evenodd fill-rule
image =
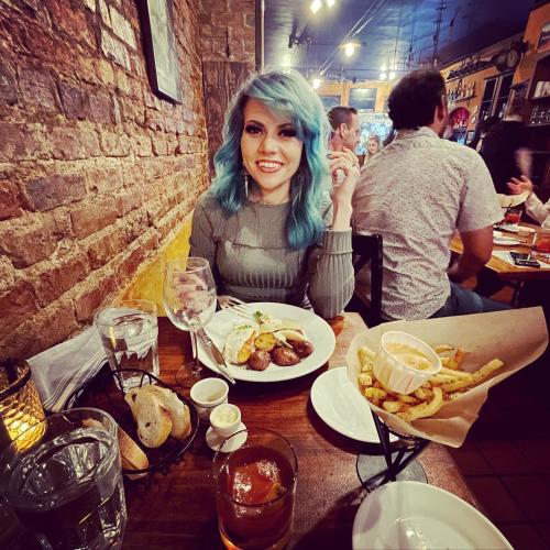
M161 399L143 387L130 389L124 400L130 405L138 425L140 441L151 449L161 447L172 431L172 416Z

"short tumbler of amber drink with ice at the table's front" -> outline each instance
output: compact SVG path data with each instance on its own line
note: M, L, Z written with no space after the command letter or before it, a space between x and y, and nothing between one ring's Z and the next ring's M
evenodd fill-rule
M233 433L213 458L218 527L228 549L284 548L292 534L298 461L278 433Z

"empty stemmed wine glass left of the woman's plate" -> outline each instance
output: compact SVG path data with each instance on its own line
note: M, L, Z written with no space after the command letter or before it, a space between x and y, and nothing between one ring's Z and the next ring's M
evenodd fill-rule
M182 257L166 262L163 301L169 320L191 337L193 359L176 372L176 382L190 387L200 378L202 367L197 358L197 333L216 310L216 284L208 260Z

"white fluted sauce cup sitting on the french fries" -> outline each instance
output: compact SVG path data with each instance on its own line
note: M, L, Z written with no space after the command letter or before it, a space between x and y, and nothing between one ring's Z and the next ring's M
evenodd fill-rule
M418 350L426 356L431 366L422 371L402 363L388 352L386 345L389 343L405 344ZM381 346L374 360L373 370L376 378L392 392L411 394L430 376L439 373L441 370L441 359L420 339L406 332L392 330L382 336Z

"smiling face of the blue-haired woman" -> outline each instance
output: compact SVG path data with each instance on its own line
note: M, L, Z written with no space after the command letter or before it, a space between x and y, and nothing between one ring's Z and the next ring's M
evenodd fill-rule
M243 117L243 165L258 186L258 199L270 204L287 202L290 178L298 170L304 150L290 117L273 112L252 98L246 101Z

